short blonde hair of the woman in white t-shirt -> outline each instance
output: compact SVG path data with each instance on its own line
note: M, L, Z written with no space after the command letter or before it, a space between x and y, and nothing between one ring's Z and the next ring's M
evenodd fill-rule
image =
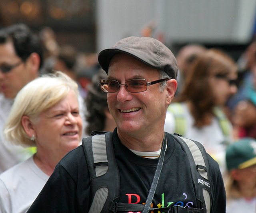
M22 117L27 115L32 122L38 120L42 111L50 109L72 91L78 97L78 85L66 74L57 71L45 74L29 82L18 92L10 115L4 127L4 136L16 145L35 145L22 125Z

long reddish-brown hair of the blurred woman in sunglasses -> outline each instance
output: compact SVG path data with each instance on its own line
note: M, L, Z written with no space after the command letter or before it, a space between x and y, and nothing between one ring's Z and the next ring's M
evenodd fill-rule
M184 88L176 99L178 102L192 102L194 125L202 127L205 125L205 115L213 113L215 100L209 86L209 77L217 74L227 76L236 70L234 60L221 50L209 49L197 56L188 70Z

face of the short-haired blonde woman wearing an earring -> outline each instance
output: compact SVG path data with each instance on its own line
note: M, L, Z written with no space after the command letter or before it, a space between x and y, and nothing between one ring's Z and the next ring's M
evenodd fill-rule
M82 119L75 94L70 91L60 102L43 111L32 125L38 153L63 157L76 148L81 140Z

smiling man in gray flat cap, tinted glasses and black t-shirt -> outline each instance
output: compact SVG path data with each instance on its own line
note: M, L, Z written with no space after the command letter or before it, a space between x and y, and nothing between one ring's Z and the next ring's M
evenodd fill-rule
M197 199L190 171L192 161L174 135L164 132L166 111L177 88L178 67L172 52L153 38L128 37L100 52L98 61L108 74L99 86L108 93L108 107L117 125L113 133L105 133L106 144L111 144L111 149L104 147L108 162L97 161L104 154L93 155L91 166L86 153L89 140L83 139L84 146L58 163L28 213L148 213L156 208L158 212L168 212L170 207L173 209L169 212L206 212ZM95 136L98 135L92 138ZM98 141L91 141L93 150ZM104 149L100 148L102 153ZM110 153L117 165L117 178ZM210 165L210 182L198 179L198 183L207 185L206 191L210 192L207 212L224 213L222 175L218 163L210 155L205 156ZM108 170L98 175L96 169L106 165ZM109 195L118 188L113 202L108 201L109 197L105 202L104 193L95 190L99 185L105 185ZM97 209L102 200L104 207ZM174 206L178 206L175 211Z

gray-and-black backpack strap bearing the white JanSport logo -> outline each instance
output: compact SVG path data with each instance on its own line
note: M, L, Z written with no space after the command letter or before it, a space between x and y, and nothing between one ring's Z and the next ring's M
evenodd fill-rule
M206 151L201 143L193 141L180 135L172 135L186 153L190 163L192 180L194 182L198 206L204 208L205 213L211 211L211 179L209 161ZM203 196L202 196L203 195Z

